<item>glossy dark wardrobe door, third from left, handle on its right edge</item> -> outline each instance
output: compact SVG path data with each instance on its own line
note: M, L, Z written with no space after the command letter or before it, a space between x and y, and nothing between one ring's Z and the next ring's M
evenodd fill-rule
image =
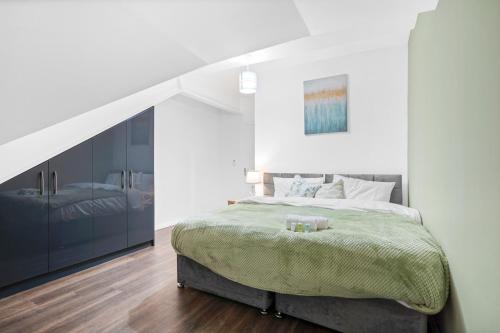
M121 123L93 139L94 257L127 247L126 137Z

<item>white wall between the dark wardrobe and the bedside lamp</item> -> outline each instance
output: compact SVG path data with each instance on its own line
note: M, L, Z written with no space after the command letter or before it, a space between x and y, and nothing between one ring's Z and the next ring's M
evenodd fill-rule
M249 192L244 114L176 96L155 108L156 228L227 205Z

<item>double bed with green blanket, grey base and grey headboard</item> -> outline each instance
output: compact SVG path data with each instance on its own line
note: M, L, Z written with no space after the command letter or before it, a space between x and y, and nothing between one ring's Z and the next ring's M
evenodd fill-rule
M250 198L214 214L186 220L172 232L179 286L188 286L344 332L426 332L427 316L448 296L446 258L418 212L359 200ZM317 177L318 175L302 175ZM323 175L321 175L323 176ZM324 175L331 182L333 175ZM328 217L329 229L302 234L283 226L286 214Z

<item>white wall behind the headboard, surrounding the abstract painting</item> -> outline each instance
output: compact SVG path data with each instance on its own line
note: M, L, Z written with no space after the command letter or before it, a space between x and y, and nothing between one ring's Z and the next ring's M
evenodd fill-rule
M407 45L284 66L263 64L255 163L269 172L398 173L407 202ZM303 82L348 74L347 133L304 135Z

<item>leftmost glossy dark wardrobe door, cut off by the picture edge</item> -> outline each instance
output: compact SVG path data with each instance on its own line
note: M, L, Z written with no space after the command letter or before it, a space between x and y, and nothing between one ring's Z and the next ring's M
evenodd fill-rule
M0 184L0 287L48 271L48 163Z

